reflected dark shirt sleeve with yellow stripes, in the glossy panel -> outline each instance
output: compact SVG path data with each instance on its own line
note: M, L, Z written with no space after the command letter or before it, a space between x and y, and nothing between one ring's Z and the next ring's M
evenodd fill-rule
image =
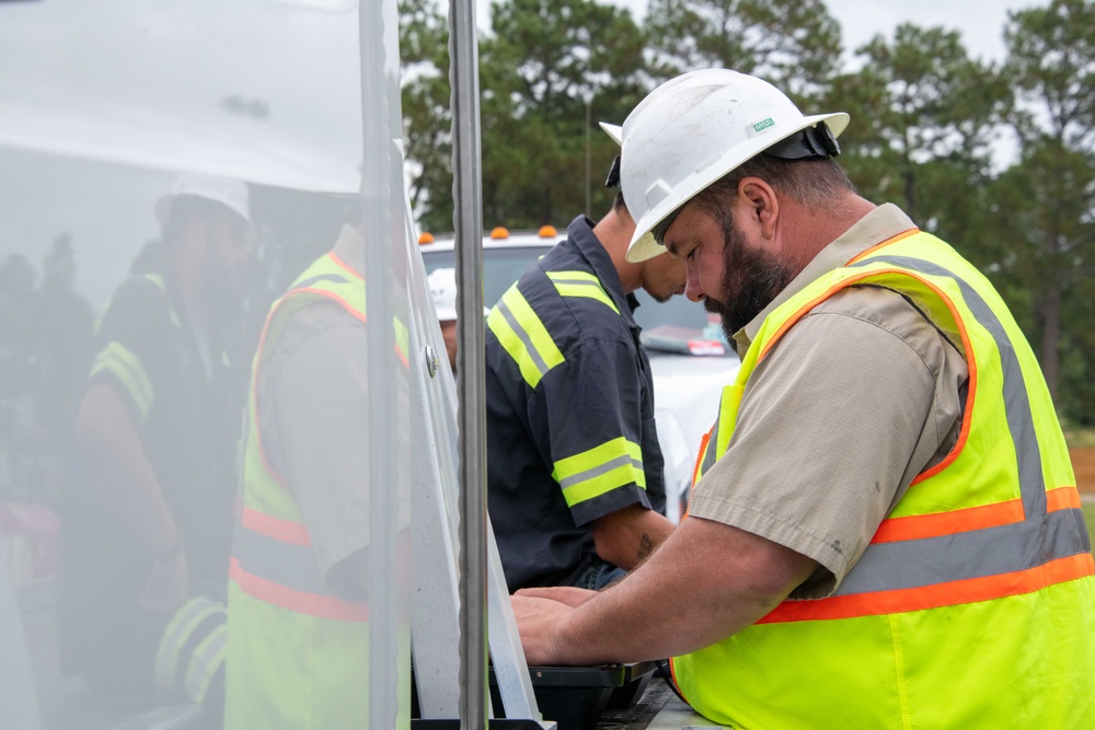
M164 341L163 328L175 326L170 317L166 294L141 277L118 287L99 323L89 382L114 385L138 427L155 402L153 349Z

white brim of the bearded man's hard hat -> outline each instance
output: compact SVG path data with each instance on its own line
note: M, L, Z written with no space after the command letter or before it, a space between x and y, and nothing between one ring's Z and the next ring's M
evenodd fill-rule
M738 146L727 151L724 159L717 160L702 170L692 173L685 181L676 186L679 190L676 195L666 196L656 206L650 208L639 221L636 222L635 233L632 235L631 244L627 246L626 258L633 264L645 262L666 252L665 246L654 240L652 231L675 210L687 204L696 195L706 189L710 185L718 181L724 175L740 167L744 163L757 157L768 148L787 139L792 135L800 132L807 127L817 126L825 121L832 131L833 137L840 135L848 128L849 116L844 112L832 114L815 114L803 117L798 123L792 125L779 137L760 136L752 140L751 144ZM601 125L604 126L603 124ZM606 131L608 131L606 129ZM611 136L611 135L610 135ZM733 155L730 154L733 152Z

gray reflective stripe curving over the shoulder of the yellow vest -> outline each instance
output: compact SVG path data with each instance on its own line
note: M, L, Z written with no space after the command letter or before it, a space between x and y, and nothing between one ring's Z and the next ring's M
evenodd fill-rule
M1041 471L1041 451L1034 430L1034 417L1030 410L1030 399L1027 394L1026 381L1018 357L1012 347L1012 340L1004 326L993 313L989 304L977 291L956 274L932 262L911 256L874 256L852 264L852 267L869 266L872 264L892 264L913 271L937 276L953 280L958 285L966 305L973 317L984 327L996 344L1000 362L1004 375L1004 408L1007 417L1007 430L1011 431L1018 460L1019 489L1023 495L1023 507L1027 514L1046 513L1046 479Z

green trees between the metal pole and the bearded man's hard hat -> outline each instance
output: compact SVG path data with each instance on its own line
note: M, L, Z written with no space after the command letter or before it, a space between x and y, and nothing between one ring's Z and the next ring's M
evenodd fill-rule
M622 123L646 93L645 36L626 10L593 0L509 0L492 24L480 66L484 227L597 217L618 153L597 123Z

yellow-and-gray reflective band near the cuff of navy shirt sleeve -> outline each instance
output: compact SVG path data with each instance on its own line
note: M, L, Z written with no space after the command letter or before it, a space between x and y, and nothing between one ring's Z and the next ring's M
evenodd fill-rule
M632 483L646 489L643 449L622 436L558 460L551 475L563 488L568 507Z

